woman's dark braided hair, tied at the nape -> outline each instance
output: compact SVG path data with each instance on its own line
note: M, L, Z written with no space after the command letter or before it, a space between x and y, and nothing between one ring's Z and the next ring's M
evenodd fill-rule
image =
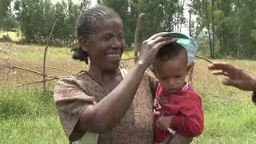
M122 21L120 16L114 12L113 9L106 6L96 6L82 12L77 22L78 41L79 38L89 38L90 34L96 34L98 32L99 23L104 19L110 18L118 18ZM82 50L81 46L75 47L72 51L74 51L72 58L85 61L86 64L88 64L88 55Z

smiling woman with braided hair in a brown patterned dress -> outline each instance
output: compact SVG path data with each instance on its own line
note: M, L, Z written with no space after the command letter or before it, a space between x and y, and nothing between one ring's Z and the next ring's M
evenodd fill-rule
M90 59L88 71L60 80L54 101L70 142L88 132L98 143L154 143L153 94L156 80L144 74L169 38L154 34L143 42L138 62L125 74L119 69L125 48L122 19L110 8L94 7L78 18L73 58ZM177 135L177 139L190 141Z

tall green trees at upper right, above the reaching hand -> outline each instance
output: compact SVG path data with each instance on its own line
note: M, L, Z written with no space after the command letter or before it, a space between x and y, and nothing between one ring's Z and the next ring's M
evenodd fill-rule
M256 58L256 1L193 0L192 2L194 13L198 15L196 37L199 34L202 36L207 22L212 27L211 13L214 12L214 42L216 43L214 54L218 56L217 58L223 56ZM211 5L212 2L214 7ZM212 30L210 34L213 35Z

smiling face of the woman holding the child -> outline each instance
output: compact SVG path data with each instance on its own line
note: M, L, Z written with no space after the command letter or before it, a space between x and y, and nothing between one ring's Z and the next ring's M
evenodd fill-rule
M117 69L126 46L122 22L118 18L102 20L98 23L98 32L90 35L86 45L91 66L102 70Z

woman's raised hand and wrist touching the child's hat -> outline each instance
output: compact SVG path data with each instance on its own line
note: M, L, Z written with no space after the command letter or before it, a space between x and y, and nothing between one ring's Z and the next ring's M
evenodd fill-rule
M162 37L166 32L154 34L142 43L142 49L137 63L149 66L158 53L158 50L171 41L170 37Z

